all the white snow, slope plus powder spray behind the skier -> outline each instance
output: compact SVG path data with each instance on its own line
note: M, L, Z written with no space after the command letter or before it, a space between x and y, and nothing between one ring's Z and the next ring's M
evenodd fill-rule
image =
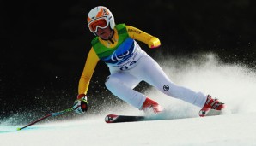
M204 59L204 63L199 63ZM155 89L146 94L161 103L169 120L107 124L107 114L143 114L125 106L80 119L29 126L21 131L8 124L0 126L1 146L248 146L256 145L256 74L241 65L227 65L214 55L176 67L176 60L162 67L171 79L195 91L209 92L225 102L222 115L198 117L199 108L163 95ZM169 67L171 66L171 67ZM161 96L161 98L159 97Z

